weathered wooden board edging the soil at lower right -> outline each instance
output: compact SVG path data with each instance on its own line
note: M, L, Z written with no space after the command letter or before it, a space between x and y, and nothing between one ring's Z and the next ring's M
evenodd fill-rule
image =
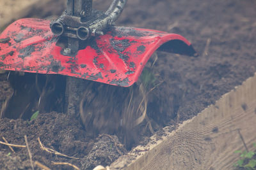
M256 74L166 136L138 146L111 169L232 169L236 150L256 142ZM153 143L153 144L152 144ZM132 160L133 159L133 160Z

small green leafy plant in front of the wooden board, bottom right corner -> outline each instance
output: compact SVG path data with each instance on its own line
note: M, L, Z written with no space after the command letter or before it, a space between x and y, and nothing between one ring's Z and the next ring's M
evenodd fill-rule
M256 143L253 143L254 148L256 148ZM254 151L244 151L236 150L234 153L241 153L240 159L234 165L239 168L244 169L256 169L256 150Z

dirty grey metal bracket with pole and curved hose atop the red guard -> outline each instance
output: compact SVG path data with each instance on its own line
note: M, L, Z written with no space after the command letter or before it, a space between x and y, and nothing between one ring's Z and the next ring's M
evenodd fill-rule
M88 39L104 34L120 16L127 0L113 0L106 12L93 10L93 0L67 0L67 10L50 27L59 36L56 45L63 55L73 55L85 48Z

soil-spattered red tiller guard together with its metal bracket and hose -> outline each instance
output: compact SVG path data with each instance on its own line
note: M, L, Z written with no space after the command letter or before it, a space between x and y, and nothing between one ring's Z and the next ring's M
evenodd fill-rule
M178 34L114 26L126 1L113 0L102 12L92 9L92 0L67 0L67 10L57 20L13 22L0 35L0 69L128 87L156 50L195 55L191 43Z

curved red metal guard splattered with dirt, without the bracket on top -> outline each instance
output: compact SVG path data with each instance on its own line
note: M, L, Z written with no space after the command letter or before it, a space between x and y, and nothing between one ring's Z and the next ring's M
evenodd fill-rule
M49 24L48 20L24 18L7 27L0 35L0 69L63 74L128 87L138 80L149 57L164 43L165 51L176 52L179 47L182 49L177 53L195 53L189 41L178 34L113 27L69 57L61 55Z

